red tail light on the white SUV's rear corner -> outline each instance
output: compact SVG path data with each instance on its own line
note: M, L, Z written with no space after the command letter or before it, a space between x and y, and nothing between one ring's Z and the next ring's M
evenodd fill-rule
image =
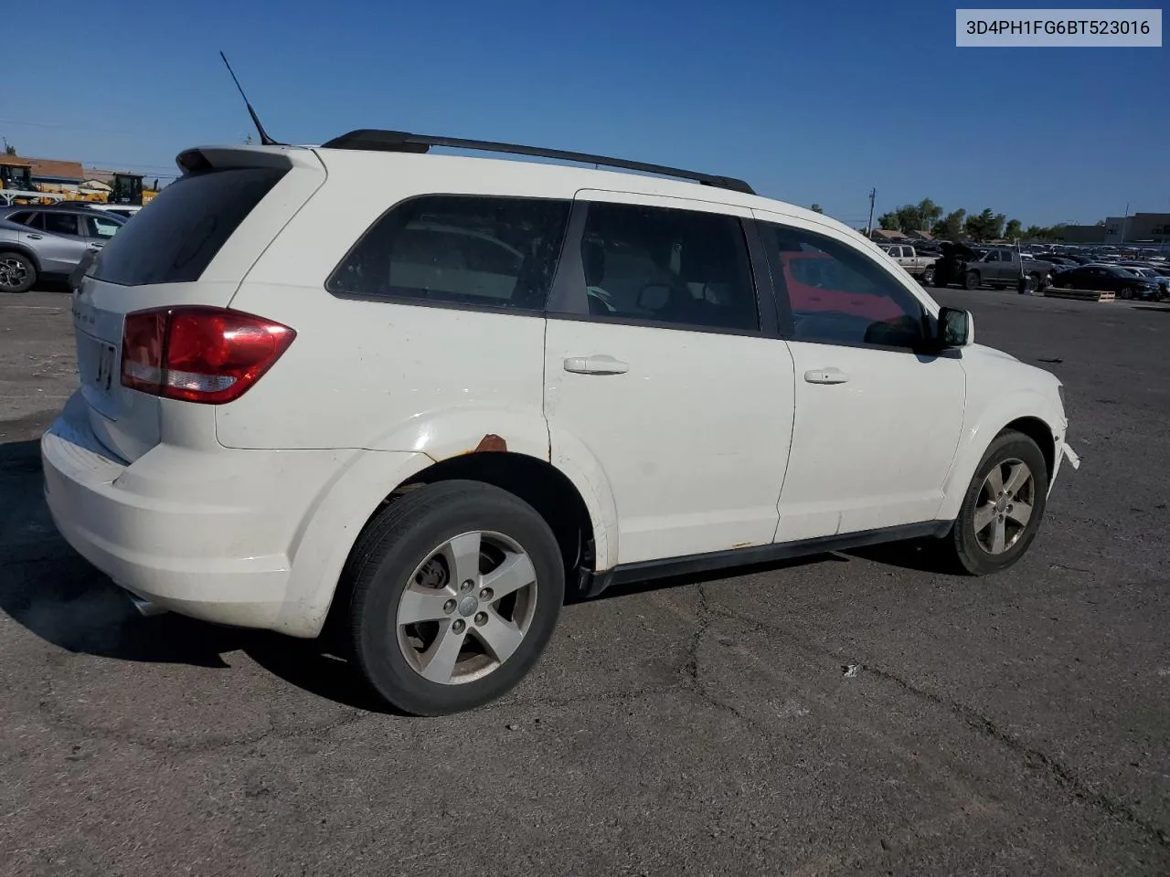
M133 311L122 332L122 386L222 405L260 380L295 337L280 323L223 308Z

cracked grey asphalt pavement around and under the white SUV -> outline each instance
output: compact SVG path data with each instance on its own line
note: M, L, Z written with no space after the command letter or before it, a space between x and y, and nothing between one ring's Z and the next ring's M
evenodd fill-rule
M68 298L4 298L0 872L1170 872L1170 309L938 297L1066 384L1083 462L1018 567L615 591L443 719L312 643L136 617L41 498Z

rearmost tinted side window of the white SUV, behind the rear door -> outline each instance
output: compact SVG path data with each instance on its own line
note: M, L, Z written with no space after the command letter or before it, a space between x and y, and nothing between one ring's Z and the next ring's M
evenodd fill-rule
M541 311L569 201L428 195L384 214L330 276L330 292Z

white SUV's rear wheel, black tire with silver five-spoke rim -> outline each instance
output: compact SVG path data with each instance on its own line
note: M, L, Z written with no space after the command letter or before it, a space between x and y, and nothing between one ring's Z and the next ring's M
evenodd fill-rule
M460 569L448 560L456 557L474 560ZM491 579L481 569L496 572L501 559L522 571L514 583L531 582L484 596ZM338 587L352 592L351 654L374 692L400 712L445 716L495 700L531 670L560 615L565 572L532 506L489 484L448 481L386 506L358 538ZM412 610L419 621L402 623Z

